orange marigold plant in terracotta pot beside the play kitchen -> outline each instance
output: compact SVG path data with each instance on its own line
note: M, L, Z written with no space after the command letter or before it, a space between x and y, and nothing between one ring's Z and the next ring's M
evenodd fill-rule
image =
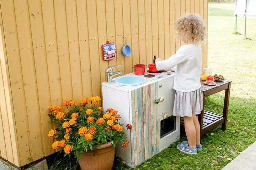
M82 170L111 170L114 161L114 147L127 147L126 134L118 112L112 108L99 107L100 97L86 97L81 106L75 100L66 100L61 106L50 106L49 118L57 129L49 131L54 136L53 149L60 148L65 156L74 154ZM65 111L64 111L65 110ZM132 126L127 124L127 130Z

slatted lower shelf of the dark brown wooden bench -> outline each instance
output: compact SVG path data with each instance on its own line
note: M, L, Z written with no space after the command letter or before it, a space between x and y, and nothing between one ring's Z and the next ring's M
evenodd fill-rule
M198 116L197 116L198 117ZM201 134L205 134L209 130L216 128L217 126L224 123L224 117L220 114L212 113L209 111L204 111L203 115L203 129L201 129ZM181 129L184 129L184 120L181 117Z

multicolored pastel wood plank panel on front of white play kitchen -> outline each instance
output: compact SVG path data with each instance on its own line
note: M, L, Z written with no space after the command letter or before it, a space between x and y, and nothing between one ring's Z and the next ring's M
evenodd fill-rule
M157 83L153 83L132 91L133 142L135 166L158 153L158 122L156 97ZM135 140L136 139L136 140Z

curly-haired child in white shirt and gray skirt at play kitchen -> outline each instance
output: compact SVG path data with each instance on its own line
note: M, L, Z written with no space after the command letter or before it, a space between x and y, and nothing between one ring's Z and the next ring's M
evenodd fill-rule
M186 45L182 45L175 55L161 61L156 59L156 69L172 70L174 76L174 116L184 118L188 141L177 145L181 152L197 154L200 144L200 125L196 114L203 109L201 77L201 45L206 41L206 27L199 15L185 15L177 19L175 29Z

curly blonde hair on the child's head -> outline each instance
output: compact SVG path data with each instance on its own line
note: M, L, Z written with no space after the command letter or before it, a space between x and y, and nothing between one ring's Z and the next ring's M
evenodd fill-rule
M174 26L179 37L186 35L188 40L195 44L206 42L206 26L199 15L184 15L175 21Z

